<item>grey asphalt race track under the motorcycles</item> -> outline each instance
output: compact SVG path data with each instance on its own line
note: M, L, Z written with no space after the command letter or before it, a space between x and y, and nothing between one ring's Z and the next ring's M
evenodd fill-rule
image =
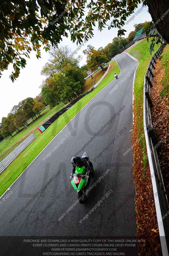
M116 59L119 59L118 64L121 69L119 79L114 79L99 92L11 186L9 191L12 191L12 194L0 204L1 236L135 236L132 150L127 156L123 156L123 153L131 146L132 86L137 62L125 53L118 55ZM129 71L130 74L126 76ZM123 82L119 84L122 79ZM115 86L116 89L110 93ZM125 108L119 113L123 106ZM71 157L115 113L119 115L116 114L113 122L84 149L95 169L92 183L108 169L110 169L109 173L91 190L86 204L77 204L59 221L60 216L77 199L69 180L72 168ZM72 135L66 135L72 127L76 131ZM124 132L121 132L122 130ZM63 144L43 161L42 159L63 137L67 137ZM96 159L95 157L114 138L116 138L115 142ZM54 174L55 178L50 180ZM41 195L37 194L45 186L44 192ZM113 192L87 220L80 224L79 221L110 189ZM29 204L23 208L28 202ZM17 213L17 217L10 223Z

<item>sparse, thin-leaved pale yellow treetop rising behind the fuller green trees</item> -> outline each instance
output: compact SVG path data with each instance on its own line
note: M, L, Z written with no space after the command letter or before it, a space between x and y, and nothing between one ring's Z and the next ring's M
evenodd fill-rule
M72 52L68 46L61 46L60 48L53 47L50 51L50 63L46 63L42 69L41 74L46 76L52 76L57 72L64 72L64 67L71 65L73 67L79 67L79 61L81 57L73 58Z

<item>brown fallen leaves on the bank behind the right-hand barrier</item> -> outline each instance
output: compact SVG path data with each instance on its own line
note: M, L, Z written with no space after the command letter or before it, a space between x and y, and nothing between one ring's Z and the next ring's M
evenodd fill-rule
M169 56L169 46L165 46L163 54ZM169 58L169 57L168 57ZM164 88L162 83L163 78L168 76L169 68L166 68L167 62L162 64L163 59L157 60L154 70L154 79L156 83L152 82L153 87L151 88L151 100L153 108L151 109L151 118L153 123L153 130L157 136L158 142L160 143L161 150L158 152L158 160L161 168L163 182L166 190L166 195L169 201L169 118L168 118L168 96L164 98L160 97L160 92ZM169 78L168 78L169 83Z

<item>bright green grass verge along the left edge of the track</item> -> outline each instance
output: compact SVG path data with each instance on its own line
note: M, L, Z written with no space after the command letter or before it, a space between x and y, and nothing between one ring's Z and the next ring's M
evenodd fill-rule
M91 100L99 91L109 84L115 77L114 72L120 73L120 69L116 61L110 62L113 68L108 72L102 82L95 90L62 114L53 124L51 124L45 132L40 133L35 130L36 139L4 170L0 175L0 195L18 178L25 168L33 161L33 159L42 151L43 148L60 132L60 130L83 108L89 100ZM19 134L18 134L19 136ZM21 136L21 135L20 135ZM35 170L36 172L36 170Z

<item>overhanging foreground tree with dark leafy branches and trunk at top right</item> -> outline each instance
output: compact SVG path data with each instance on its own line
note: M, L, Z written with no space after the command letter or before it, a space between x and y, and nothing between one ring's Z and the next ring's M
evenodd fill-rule
M169 1L166 0L116 0L87 1L57 0L6 1L0 2L0 70L13 64L11 80L19 76L31 50L40 57L40 46L50 50L49 42L57 45L70 32L71 40L78 43L88 41L98 24L101 31L109 22L110 28L118 28L117 36L123 36L125 20L134 12L138 4L148 5L159 34L169 43Z

